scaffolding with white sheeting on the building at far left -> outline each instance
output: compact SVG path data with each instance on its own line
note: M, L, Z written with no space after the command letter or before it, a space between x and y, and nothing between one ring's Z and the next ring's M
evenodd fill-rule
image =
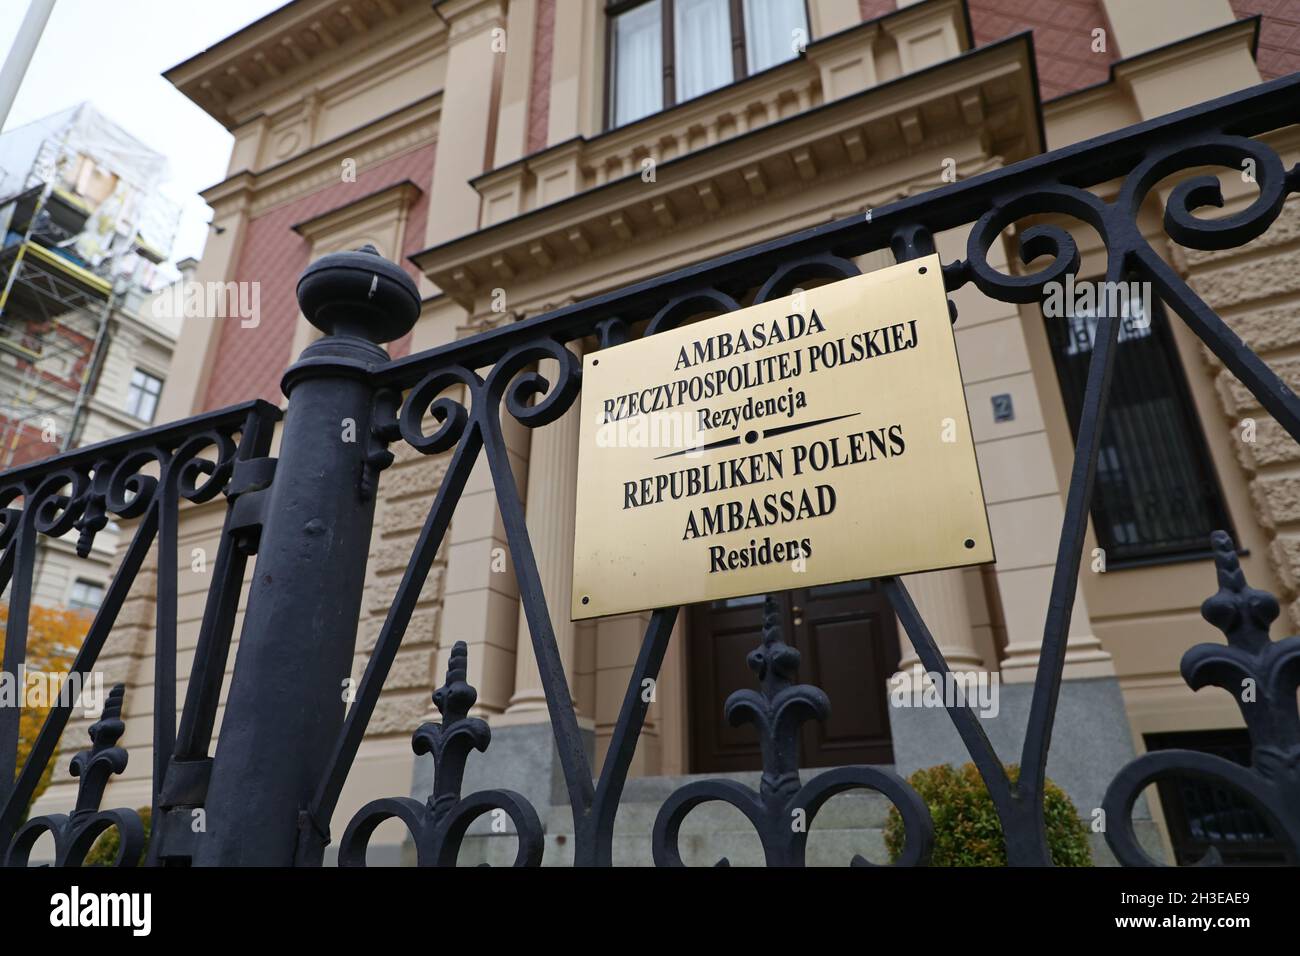
M0 135L0 468L78 444L114 310L176 235L165 170L84 103Z

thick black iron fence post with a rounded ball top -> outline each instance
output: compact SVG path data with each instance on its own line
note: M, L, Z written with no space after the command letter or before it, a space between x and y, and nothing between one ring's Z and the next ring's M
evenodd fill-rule
M291 865L342 728L374 519L391 462L370 372L381 342L415 325L415 282L367 246L316 261L298 282L325 337L285 373L289 398L198 865Z

